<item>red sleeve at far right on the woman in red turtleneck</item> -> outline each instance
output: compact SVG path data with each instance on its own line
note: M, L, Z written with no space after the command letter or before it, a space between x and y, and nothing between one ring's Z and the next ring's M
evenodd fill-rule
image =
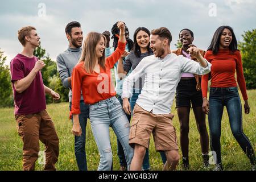
M242 58L240 51L237 51L237 82L239 88L241 90L243 100L246 101L248 99L246 93L246 84L245 84L245 77L243 76L243 65L242 65Z

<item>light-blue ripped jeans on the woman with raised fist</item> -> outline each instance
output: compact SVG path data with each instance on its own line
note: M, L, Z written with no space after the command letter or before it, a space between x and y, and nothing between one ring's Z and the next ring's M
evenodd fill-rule
M98 171L110 170L112 167L112 149L110 144L109 127L112 127L119 142L122 144L127 168L130 169L134 150L129 145L130 123L116 97L89 105L90 125L98 150L100 164Z

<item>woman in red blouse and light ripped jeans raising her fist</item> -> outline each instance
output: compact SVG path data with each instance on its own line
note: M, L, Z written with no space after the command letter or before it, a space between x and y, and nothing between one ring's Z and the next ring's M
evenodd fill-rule
M111 81L110 69L125 51L125 25L123 22L118 22L118 28L120 29L118 47L106 60L105 36L97 32L90 32L86 36L79 64L72 72L73 134L81 135L79 114L82 91L85 103L89 104L90 125L100 151L99 171L109 171L112 168L110 126L122 144L128 169L133 158L133 148L129 146L130 123L120 102L115 97Z

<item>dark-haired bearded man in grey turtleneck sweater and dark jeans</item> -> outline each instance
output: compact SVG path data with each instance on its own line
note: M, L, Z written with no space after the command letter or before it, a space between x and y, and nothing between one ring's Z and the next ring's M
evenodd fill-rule
M82 51L82 29L79 22L70 22L65 28L67 39L69 42L68 49L57 56L57 70L60 75L61 82L65 88L69 88L69 110L72 106L72 89L71 75L72 70L78 63ZM80 137L75 136L75 155L77 166L80 171L87 171L86 153L85 153L85 129L87 119L89 118L89 107L84 103L81 95L79 122L82 134ZM73 118L72 118L73 121ZM74 127L74 125L73 125Z

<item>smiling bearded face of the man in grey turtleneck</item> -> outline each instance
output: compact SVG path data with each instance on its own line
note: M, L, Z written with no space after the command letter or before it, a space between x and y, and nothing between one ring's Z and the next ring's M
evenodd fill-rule
M70 42L70 46L72 47L76 47L79 48L82 46L82 39L84 38L82 36L82 28L81 27L73 27L71 29L71 35L68 35L68 39Z

